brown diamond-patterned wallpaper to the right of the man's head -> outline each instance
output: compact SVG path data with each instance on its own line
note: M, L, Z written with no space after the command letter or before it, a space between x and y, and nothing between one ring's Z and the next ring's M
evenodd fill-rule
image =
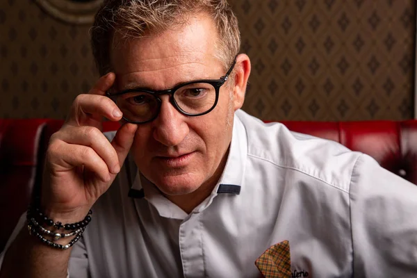
M414 0L235 1L245 109L288 120L413 117Z

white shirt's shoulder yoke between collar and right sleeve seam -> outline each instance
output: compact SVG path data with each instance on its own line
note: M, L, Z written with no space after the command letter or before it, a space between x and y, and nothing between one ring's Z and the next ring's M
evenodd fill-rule
M272 163L281 170L297 171L349 192L361 153L338 142L289 131L279 122L265 124L243 111L237 111L236 116L247 132L248 158Z

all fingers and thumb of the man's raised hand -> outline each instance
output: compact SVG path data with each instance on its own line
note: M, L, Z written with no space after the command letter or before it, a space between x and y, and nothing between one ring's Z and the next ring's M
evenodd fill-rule
M101 120L121 120L122 112L105 96L115 74L102 76L88 94L76 97L66 124L51 138L49 162L55 169L68 171L83 166L110 181L120 171L133 143L136 124L124 124L110 143L101 133ZM58 170L58 171L59 171Z

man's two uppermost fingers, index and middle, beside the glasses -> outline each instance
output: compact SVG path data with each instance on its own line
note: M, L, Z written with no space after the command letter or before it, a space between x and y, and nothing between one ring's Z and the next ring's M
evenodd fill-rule
M106 91L115 81L113 72L101 76L88 94L81 94L74 100L67 123L73 126L95 126L100 128L103 117L112 121L120 120L122 111L108 97Z

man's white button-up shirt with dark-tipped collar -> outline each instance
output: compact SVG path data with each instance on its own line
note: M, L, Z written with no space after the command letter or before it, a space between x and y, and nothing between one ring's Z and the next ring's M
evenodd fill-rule
M417 275L414 184L370 156L243 111L220 181L190 215L129 158L92 210L70 277L260 277L254 261L283 240L293 277Z

